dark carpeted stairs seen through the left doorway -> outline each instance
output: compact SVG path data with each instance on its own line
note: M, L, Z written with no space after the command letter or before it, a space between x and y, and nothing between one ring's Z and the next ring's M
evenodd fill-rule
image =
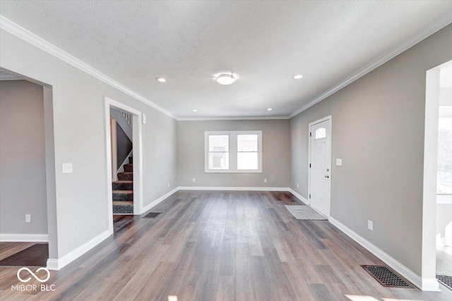
M133 214L133 158L124 165L124 173L118 173L113 181L113 214Z

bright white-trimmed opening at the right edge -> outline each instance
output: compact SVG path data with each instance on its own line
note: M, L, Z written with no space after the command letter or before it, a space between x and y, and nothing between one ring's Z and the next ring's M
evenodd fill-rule
M427 71L422 205L422 290L452 277L452 61Z

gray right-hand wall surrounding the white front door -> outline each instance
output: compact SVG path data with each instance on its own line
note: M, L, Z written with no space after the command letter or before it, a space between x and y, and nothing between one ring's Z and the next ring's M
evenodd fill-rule
M448 25L290 122L292 189L307 197L308 124L332 115L331 216L418 275L426 71L452 59L451 37Z

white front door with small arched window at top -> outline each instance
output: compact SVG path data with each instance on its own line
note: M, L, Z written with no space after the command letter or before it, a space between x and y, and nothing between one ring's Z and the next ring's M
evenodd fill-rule
M331 208L331 117L309 125L309 197L311 206L325 216Z

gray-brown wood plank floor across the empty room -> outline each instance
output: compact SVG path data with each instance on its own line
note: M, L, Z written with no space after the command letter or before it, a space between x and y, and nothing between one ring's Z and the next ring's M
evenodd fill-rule
M115 235L52 271L54 292L12 292L17 269L1 268L0 298L452 300L444 287L384 288L360 266L379 259L328 221L297 221L285 204L301 202L288 192L179 191L153 209L156 219L116 217Z

